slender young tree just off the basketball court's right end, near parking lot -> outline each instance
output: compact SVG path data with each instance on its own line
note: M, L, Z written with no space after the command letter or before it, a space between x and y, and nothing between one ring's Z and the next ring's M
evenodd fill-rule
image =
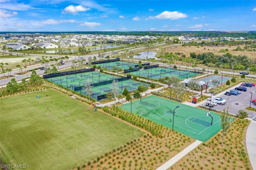
M231 125L231 121L230 121L231 117L228 113L228 108L227 110L225 108L223 109L223 111L220 114L220 119L221 119L220 127L222 128L222 132L223 132L221 146L223 147L224 136L228 132L228 129L230 128L230 125Z

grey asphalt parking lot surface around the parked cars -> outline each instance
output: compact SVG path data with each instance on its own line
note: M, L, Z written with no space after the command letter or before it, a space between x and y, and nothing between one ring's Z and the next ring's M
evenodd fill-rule
M233 88L230 88L229 90L235 89L235 87L238 87L239 85L240 84L234 86ZM225 105L217 104L213 108L218 109L218 110L223 110L224 108L228 107L228 112L232 113L232 114L237 114L238 110L242 109L242 110L245 110L248 114L250 114L249 115L250 119L256 119L255 111L249 111L249 110L245 109L245 107L249 107L250 104L251 104L251 107L256 108L256 106L254 106L254 104L251 103L251 96L252 96L252 99L256 99L256 86L246 87L246 88L247 88L246 92L239 91L239 92L241 92L241 94L238 94L238 95L231 95L231 96L224 95L225 92L228 90L226 90L220 94L217 94L216 96L212 95L212 100L215 97L220 96L220 97L223 97L227 101ZM206 106L206 103L204 103L204 106Z

